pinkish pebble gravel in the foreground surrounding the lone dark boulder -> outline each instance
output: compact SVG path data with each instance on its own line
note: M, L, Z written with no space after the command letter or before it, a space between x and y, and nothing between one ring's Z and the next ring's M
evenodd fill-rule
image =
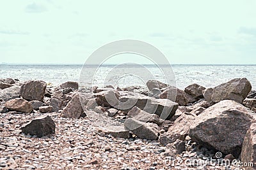
M42 115L54 120L55 134L36 138L21 133L22 125ZM186 152L175 157L158 141L105 135L100 122L88 117L70 120L59 113L0 113L0 169L239 169L186 166L185 160L202 161L215 153L188 139Z

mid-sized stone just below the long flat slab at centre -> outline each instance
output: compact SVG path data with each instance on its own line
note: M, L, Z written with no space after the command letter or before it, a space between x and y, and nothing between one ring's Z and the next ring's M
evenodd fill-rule
M158 115L147 113L146 111L140 110L140 108L134 106L132 110L127 113L127 118L134 118L141 122L145 123L153 123L157 125L161 125L161 120Z

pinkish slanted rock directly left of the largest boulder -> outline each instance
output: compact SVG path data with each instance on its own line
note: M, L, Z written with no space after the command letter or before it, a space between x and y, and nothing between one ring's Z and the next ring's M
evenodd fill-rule
M196 115L186 112L182 113L182 115L175 120L174 124L168 129L168 131L160 135L160 143L167 145L168 143L175 142L177 139L184 141L186 136L188 136L191 124L195 119Z

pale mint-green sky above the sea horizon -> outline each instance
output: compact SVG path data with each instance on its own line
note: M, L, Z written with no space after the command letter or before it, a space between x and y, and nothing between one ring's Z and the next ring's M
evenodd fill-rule
M83 64L100 46L145 41L170 64L256 64L256 1L1 1L0 63ZM140 55L109 60L142 64Z

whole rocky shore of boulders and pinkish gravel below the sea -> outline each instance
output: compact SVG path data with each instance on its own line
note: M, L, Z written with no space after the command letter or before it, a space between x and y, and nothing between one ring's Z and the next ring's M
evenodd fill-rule
M0 80L0 169L256 169L246 78L184 90Z

